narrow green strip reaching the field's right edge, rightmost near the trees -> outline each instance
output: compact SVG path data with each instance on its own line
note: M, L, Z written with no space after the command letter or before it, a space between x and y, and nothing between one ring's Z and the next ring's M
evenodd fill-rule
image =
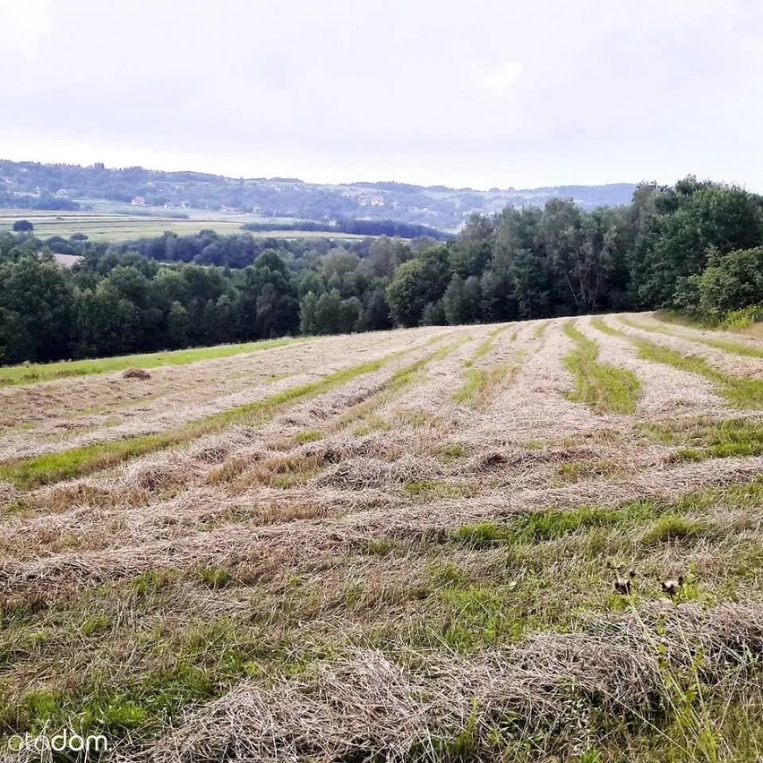
M596 328L601 330L600 326L596 326ZM631 326L631 328L638 327ZM704 376L716 385L718 393L733 407L752 410L763 408L763 381L729 376L713 368L712 365L707 363L705 358L687 357L670 347L658 345L648 339L633 337L621 330L610 330L615 331L618 336L622 337L622 339L627 339L630 344L636 347L639 351L638 356L640 360L672 365L673 368L677 368L679 371L698 373L700 376Z

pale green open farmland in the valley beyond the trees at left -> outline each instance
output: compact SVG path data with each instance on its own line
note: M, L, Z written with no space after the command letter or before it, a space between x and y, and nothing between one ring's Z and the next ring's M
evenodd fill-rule
M90 202L89 202L90 203ZM130 208L127 207L129 210ZM203 210L188 210L189 219L177 219L171 212L133 214L114 210L78 211L78 212L40 212L35 210L0 210L0 232L10 230L19 219L29 220L34 224L34 232L40 238L83 233L93 241L129 241L134 238L161 236L165 231L175 231L180 236L198 233L200 230L214 230L220 236L244 233L241 226L247 222L261 222L254 215L224 215ZM184 211L185 213L185 211ZM252 236L269 238L362 238L352 234L332 234L322 232L303 232L294 230L273 230L254 232Z

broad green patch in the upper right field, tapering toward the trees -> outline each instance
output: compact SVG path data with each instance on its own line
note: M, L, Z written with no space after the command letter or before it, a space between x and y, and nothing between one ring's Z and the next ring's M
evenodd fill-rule
M596 363L599 348L587 339L574 323L564 326L564 333L575 342L575 349L564 358L564 364L575 379L575 390L568 398L584 403L597 414L632 414L641 394L641 384L635 373Z

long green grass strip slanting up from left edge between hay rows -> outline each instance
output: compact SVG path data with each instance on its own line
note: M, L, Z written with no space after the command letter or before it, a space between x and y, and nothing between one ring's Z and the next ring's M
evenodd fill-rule
M191 442L205 434L220 432L232 424L258 426L276 416L284 407L328 392L365 373L379 371L384 365L407 352L410 350L399 350L371 363L354 365L330 373L318 381L310 381L256 402L205 416L167 432L47 453L34 459L7 462L0 465L0 479L7 480L20 488L32 488L40 484L51 484L74 476L90 474L137 456Z

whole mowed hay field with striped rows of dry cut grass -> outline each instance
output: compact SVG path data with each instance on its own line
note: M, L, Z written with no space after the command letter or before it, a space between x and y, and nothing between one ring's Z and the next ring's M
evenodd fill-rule
M763 756L763 340L643 313L149 373L0 390L6 739Z

